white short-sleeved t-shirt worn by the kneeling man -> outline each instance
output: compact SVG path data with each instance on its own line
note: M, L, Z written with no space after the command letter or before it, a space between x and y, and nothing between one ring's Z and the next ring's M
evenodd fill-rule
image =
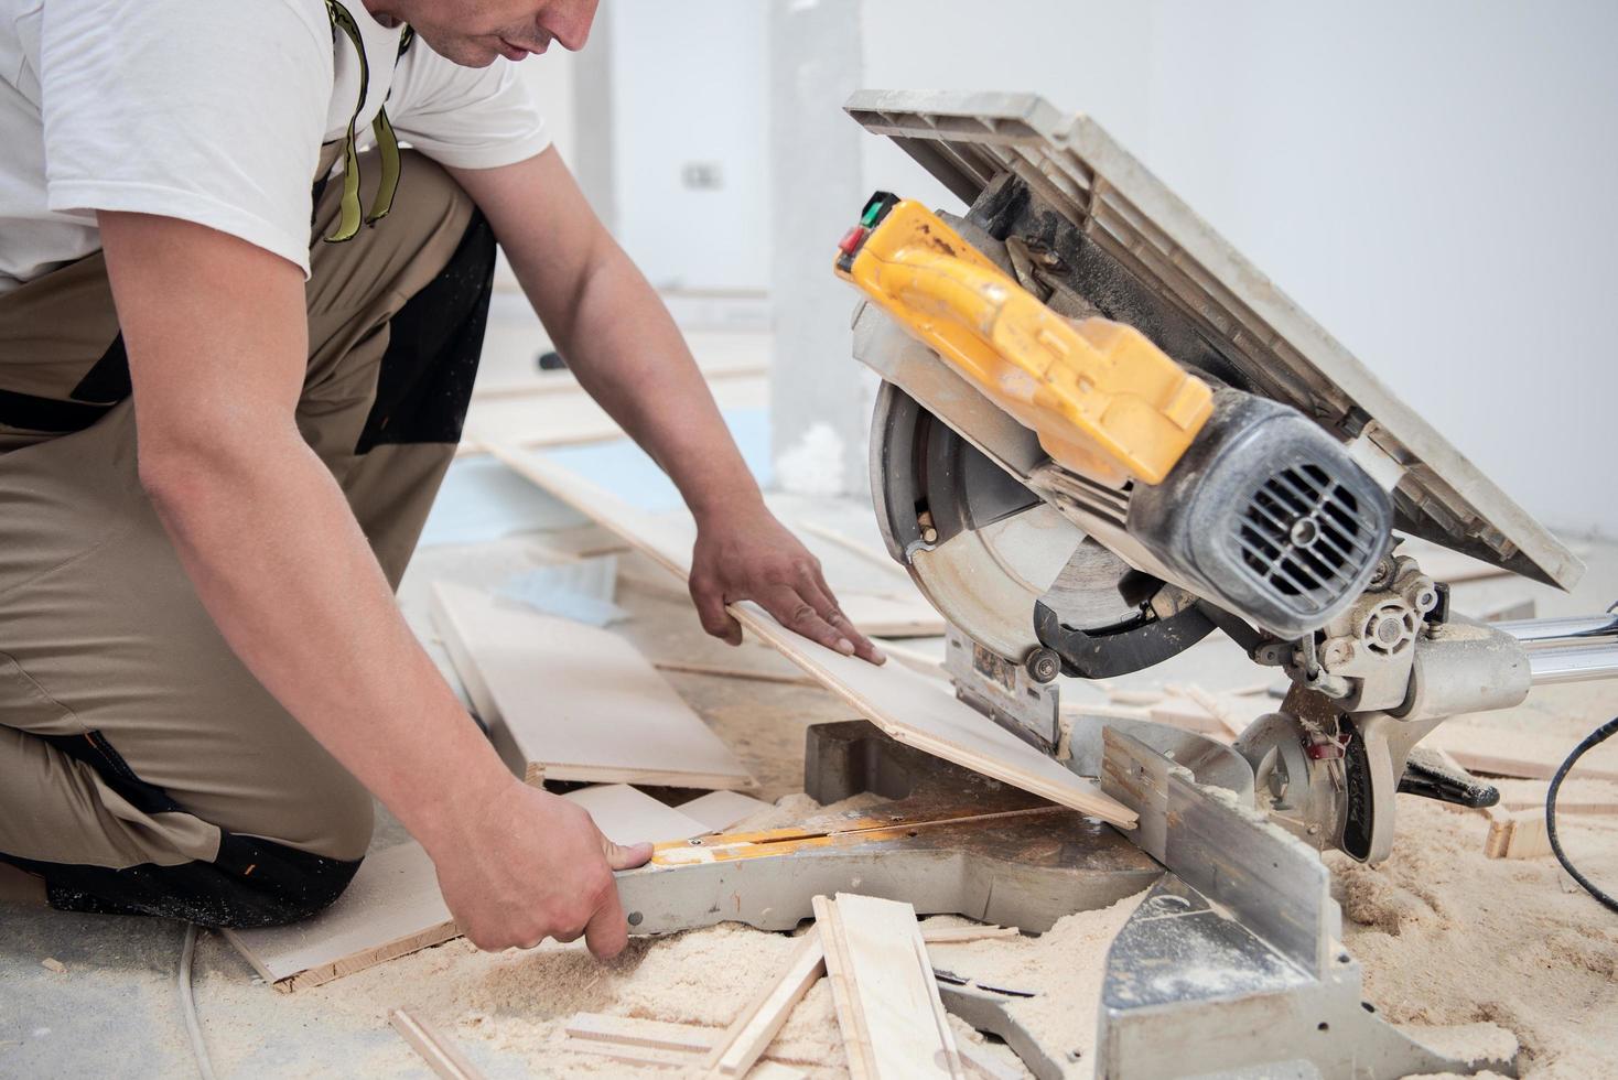
M493 168L550 139L516 68L461 68L348 0L403 142ZM395 60L398 60L395 63ZM0 0L0 294L100 249L95 210L197 221L309 273L320 146L359 99L324 0ZM401 186L409 184L406 167Z

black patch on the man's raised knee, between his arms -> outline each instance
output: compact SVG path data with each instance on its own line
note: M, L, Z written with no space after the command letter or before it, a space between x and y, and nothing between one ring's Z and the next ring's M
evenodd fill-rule
M495 233L474 209L450 262L388 322L377 399L356 454L383 445L461 441L493 283Z

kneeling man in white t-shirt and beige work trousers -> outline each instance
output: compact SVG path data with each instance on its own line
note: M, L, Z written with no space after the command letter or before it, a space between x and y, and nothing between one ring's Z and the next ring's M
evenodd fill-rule
M358 868L369 789L476 944L623 947L612 871L649 850L516 783L392 597L460 438L495 239L691 506L702 626L738 642L725 603L754 598L880 661L515 78L552 40L582 47L594 8L0 0L13 886L301 918Z

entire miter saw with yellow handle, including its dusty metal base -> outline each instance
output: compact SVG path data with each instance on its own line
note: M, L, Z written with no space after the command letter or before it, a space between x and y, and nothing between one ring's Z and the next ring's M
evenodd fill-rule
M958 697L1137 826L817 724L806 792L888 802L657 846L618 875L631 931L786 930L854 891L1040 933L1146 891L1107 951L1091 1056L1031 1036L1026 989L935 960L945 1006L1042 1078L1511 1074L1375 1015L1320 852L1385 859L1396 791L1498 797L1421 755L1445 716L1618 674L1612 614L1469 621L1400 537L1565 589L1579 561L1094 121L1010 94L846 108L969 207L877 192L835 255L882 378L888 551L950 624ZM1290 679L1235 745L1060 708L1060 676L1215 631Z

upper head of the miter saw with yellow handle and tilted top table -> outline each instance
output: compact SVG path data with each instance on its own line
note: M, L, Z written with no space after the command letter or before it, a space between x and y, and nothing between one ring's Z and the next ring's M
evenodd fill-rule
M1396 791L1498 799L1413 757L1443 718L1618 673L1618 616L1450 608L1400 534L1563 589L1582 564L1094 121L1024 95L848 112L969 205L877 192L835 257L883 380L877 519L963 700L1060 753L1058 674L1223 631L1291 681L1235 744L1257 805L1377 862Z

